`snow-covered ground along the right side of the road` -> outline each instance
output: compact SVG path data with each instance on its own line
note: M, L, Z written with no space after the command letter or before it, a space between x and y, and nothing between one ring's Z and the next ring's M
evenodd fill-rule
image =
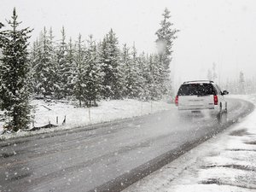
M124 191L256 191L256 110Z

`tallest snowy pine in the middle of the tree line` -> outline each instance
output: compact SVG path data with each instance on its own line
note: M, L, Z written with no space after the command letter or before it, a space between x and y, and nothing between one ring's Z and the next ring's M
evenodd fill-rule
M119 52L118 38L111 29L103 38L100 48L100 63L104 74L102 81L102 96L104 98L122 98L125 81Z

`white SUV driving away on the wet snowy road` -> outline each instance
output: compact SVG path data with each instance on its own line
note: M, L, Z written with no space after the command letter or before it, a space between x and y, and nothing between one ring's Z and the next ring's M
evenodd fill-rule
M221 91L218 84L213 81L187 81L177 91L175 104L178 110L191 112L210 110L221 114L228 111L228 103L224 99L224 95L227 94L229 94L227 90Z

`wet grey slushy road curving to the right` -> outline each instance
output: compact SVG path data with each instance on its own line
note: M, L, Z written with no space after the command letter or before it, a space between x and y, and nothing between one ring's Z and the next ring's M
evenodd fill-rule
M0 191L119 191L253 109L229 100L227 121L176 110L0 143Z

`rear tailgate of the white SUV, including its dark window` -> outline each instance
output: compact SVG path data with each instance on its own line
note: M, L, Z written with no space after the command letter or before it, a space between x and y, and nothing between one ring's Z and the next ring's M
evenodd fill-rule
M216 89L209 83L182 84L177 91L178 109L196 110L214 108Z

